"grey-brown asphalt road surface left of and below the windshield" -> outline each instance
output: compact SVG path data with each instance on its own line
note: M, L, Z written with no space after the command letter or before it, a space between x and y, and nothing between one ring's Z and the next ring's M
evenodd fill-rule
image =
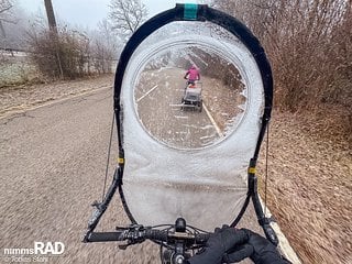
M112 90L101 89L0 120L0 248L59 241L65 252L46 263L158 263L158 246L81 243L90 204L101 199L112 121ZM116 135L116 133L114 133ZM117 156L113 139L108 183ZM100 222L129 223L118 195ZM241 222L258 231L252 208Z

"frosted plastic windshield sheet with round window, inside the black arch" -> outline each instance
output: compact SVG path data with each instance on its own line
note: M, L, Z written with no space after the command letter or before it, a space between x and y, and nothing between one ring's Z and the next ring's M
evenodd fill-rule
M182 108L187 67L200 69L202 111ZM209 23L175 22L145 40L125 70L123 190L139 223L212 230L242 208L263 114L246 47Z

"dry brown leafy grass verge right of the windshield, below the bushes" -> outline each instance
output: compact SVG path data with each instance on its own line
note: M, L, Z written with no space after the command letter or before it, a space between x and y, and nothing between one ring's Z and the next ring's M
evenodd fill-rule
M345 136L323 128L317 117L274 114L267 204L302 263L346 264L352 262L351 142L337 143L329 135Z

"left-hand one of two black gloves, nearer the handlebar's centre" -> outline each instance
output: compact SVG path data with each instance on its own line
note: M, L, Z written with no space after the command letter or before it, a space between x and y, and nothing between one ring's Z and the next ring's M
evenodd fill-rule
M199 254L188 260L189 264L221 264L223 255L237 245L244 244L248 234L243 230L223 226L216 229Z

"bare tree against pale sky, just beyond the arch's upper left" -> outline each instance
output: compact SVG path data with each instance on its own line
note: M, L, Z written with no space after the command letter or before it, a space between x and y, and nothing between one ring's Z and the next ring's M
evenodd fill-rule
M147 16L146 7L140 0L111 0L109 7L111 29L123 37L135 32Z

